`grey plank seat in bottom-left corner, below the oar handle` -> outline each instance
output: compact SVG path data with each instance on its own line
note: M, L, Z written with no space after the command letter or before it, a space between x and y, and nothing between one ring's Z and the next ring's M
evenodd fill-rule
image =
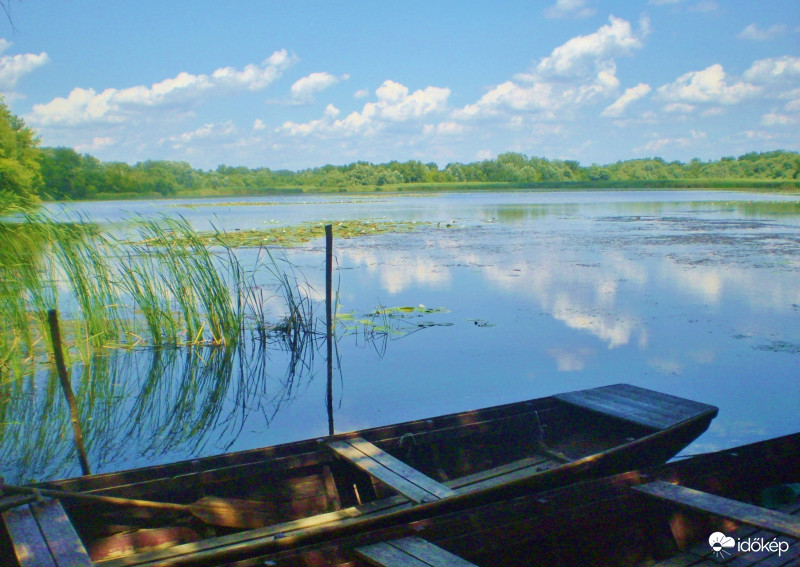
M22 567L92 565L58 500L47 499L6 510L3 520Z

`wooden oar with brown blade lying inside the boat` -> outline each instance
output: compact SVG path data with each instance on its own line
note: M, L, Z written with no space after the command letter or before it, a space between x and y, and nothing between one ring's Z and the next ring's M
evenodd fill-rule
M273 519L275 516L275 506L273 504L252 500L204 496L191 504L174 504L171 502L156 502L153 500L138 500L134 498L120 498L119 496L85 494L83 492L67 492L65 490L55 490L51 488L33 488L30 486L13 486L8 484L0 484L0 490L24 494L38 493L42 496L49 496L52 498L95 502L127 508L147 508L165 512L188 513L206 524L224 526L226 528L261 528L275 521Z

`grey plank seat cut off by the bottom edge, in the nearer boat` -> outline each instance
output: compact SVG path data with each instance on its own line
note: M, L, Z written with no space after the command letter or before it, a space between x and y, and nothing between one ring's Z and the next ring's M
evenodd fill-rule
M380 567L475 567L473 563L413 536L357 547L355 552Z

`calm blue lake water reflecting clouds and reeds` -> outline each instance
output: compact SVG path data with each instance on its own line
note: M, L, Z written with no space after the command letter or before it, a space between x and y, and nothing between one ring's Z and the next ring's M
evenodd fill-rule
M617 382L720 408L686 454L800 431L796 196L376 193L69 208L123 231L164 214L201 230L332 223L337 432ZM337 237L349 219L418 226ZM283 254L321 316L324 242ZM324 352L321 341L299 357L140 349L76 369L93 472L327 434ZM111 379L93 387L101 374ZM44 390L5 417L9 481L80 474L63 401Z

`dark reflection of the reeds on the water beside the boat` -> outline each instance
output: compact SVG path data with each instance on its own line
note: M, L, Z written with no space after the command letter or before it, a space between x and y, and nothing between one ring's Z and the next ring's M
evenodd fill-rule
M269 426L310 380L310 362L282 343L115 350L75 364L81 423L93 471L228 450L251 419ZM269 357L269 360L267 360ZM279 375L267 369L285 368ZM295 370L308 370L296 374ZM53 372L7 384L0 401L0 476L9 482L78 474L69 408ZM252 422L251 422L252 423Z

